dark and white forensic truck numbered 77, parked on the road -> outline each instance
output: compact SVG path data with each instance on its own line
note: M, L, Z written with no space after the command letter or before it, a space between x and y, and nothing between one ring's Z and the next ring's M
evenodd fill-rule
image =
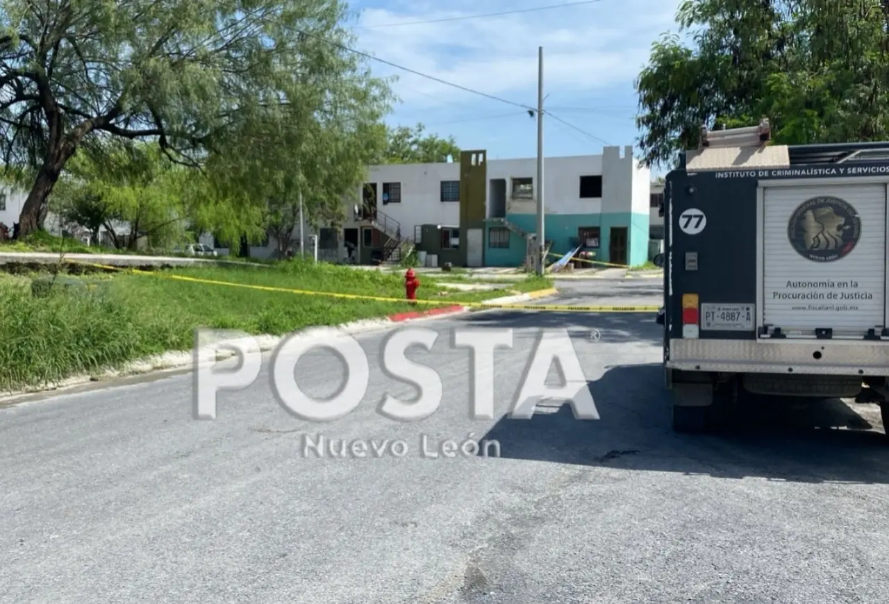
M889 425L889 142L784 146L701 129L664 190L673 429L749 393L880 403Z

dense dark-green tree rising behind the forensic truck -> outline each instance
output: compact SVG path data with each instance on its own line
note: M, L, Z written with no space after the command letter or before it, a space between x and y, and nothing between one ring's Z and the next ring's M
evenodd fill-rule
M637 79L644 159L671 163L701 125L769 117L782 144L889 136L889 8L839 0L686 0Z

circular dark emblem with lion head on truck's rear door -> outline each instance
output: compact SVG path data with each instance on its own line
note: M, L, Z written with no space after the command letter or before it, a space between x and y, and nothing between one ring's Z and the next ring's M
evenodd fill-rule
M790 245L813 262L844 258L861 237L861 218L848 202L823 195L799 204L787 227Z

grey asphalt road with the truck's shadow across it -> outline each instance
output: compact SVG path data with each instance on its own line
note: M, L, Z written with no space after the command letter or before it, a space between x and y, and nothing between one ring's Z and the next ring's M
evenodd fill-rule
M565 304L651 305L660 293L657 280L559 287ZM421 325L441 337L409 355L445 393L419 423L375 410L383 393L413 391L379 369L380 333L359 338L372 353L364 403L328 425L276 403L268 359L254 385L220 395L212 421L192 419L188 375L0 409L0 600L885 601L889 448L874 409L759 401L737 433L682 436L653 315ZM467 327L517 330L497 356L493 420L469 419L469 354L448 343ZM502 417L544 327L569 330L600 419L551 405ZM335 392L333 359L301 361L300 386ZM307 457L307 433L408 451ZM468 433L499 441L501 457L420 455L423 434Z

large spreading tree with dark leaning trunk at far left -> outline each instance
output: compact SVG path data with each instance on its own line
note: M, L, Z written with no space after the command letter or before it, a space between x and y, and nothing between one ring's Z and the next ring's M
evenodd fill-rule
M346 50L345 16L337 0L4 2L4 163L33 174L20 235L40 227L68 161L100 135L156 141L200 166L231 153L233 131L255 144L252 123L287 124L307 87L379 96Z

